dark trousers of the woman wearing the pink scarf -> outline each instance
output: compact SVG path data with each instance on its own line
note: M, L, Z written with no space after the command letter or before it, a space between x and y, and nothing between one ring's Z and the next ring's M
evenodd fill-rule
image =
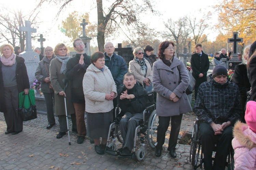
M17 86L4 87L4 99L6 112L4 119L7 125L8 132L18 132L23 130L22 117L18 114L19 108L19 93Z

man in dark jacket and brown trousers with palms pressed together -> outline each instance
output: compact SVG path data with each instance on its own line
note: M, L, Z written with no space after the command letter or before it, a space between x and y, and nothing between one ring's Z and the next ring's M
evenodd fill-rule
M85 53L85 45L81 38L74 39L73 46L77 53L67 62L67 72L65 74L71 82L71 97L75 108L78 133L77 143L82 144L86 136L83 78L86 69L90 65L90 57Z

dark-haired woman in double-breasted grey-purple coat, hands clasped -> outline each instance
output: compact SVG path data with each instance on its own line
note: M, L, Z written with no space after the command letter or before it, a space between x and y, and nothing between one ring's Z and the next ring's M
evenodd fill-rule
M189 75L184 63L174 56L174 43L164 41L159 45L159 60L153 64L152 83L157 92L156 112L159 118L157 128L156 156L161 156L165 134L170 124L171 133L168 145L171 157L176 157L175 147L181 127L182 114L192 108L185 93Z

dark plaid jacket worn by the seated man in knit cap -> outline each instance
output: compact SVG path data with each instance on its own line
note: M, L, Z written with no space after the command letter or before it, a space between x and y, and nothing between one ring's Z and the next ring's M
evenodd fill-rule
M213 79L202 83L193 111L201 122L222 124L229 120L234 124L242 115L238 86L229 81L220 84Z

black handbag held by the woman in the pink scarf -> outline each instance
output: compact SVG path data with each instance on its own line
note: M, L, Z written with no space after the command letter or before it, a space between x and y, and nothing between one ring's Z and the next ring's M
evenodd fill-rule
M23 95L25 95L25 94L23 94ZM29 98L29 102L30 102L30 107L25 109L24 108L25 100L23 100L22 108L18 108L18 114L20 114L20 116L22 117L22 120L24 122L37 118L37 108L35 105L32 105L29 95L28 95L28 98Z

